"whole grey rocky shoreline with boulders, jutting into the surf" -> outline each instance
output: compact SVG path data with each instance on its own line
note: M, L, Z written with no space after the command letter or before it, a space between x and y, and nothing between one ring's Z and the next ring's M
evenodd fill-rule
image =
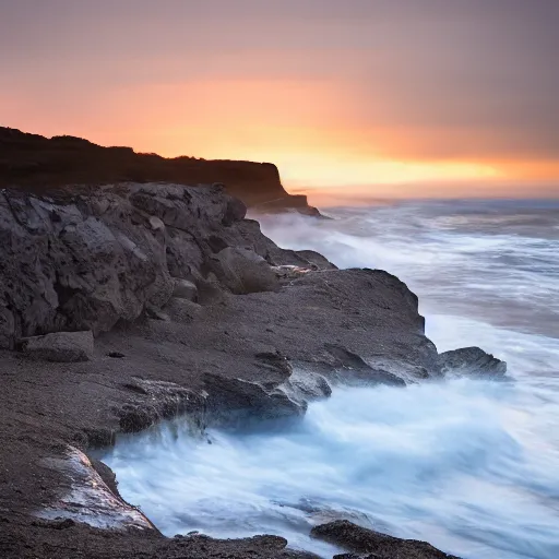
M297 418L336 383L504 373L476 348L439 355L396 277L283 250L245 216L219 186L2 191L2 557L311 557L276 536L164 538L87 453L177 415ZM445 557L406 546L364 552Z

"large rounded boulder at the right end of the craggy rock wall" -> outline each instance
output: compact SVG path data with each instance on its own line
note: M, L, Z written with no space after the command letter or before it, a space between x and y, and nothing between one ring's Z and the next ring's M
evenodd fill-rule
M270 264L253 250L228 247L212 258L217 280L231 293L277 292L280 282Z

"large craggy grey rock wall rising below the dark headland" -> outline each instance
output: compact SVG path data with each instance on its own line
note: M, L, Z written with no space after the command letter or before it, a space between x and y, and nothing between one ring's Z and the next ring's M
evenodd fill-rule
M97 335L132 322L146 306L160 309L174 277L191 277L212 254L203 241L210 231L242 242L231 223L242 212L231 207L218 189L180 185L74 187L56 198L7 189L0 195L0 348L41 332ZM264 274L262 266L261 285Z

